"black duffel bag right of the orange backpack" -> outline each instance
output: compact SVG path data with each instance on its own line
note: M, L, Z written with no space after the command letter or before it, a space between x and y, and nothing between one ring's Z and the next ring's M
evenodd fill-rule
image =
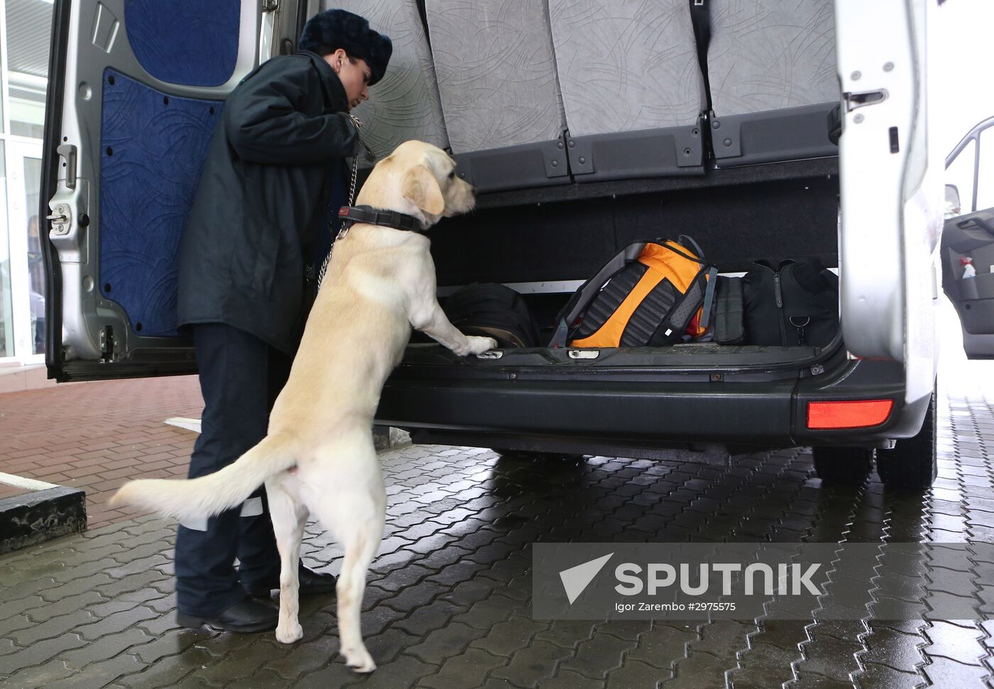
M817 258L753 264L743 277L745 344L828 345L839 331L839 276Z

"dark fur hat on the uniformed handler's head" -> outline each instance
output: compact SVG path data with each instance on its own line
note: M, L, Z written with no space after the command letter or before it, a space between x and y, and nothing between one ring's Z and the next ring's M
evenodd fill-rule
M307 20L299 48L319 55L329 55L341 48L350 57L365 60L373 73L371 86L383 79L394 52L389 36L378 34L370 29L364 17L345 10L325 10Z

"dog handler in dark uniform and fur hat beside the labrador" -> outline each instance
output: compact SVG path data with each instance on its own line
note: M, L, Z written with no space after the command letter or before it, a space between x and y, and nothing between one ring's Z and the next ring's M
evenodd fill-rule
M308 21L299 48L260 65L228 96L184 229L178 315L204 396L190 478L265 436L330 242L331 200L347 193L345 158L361 150L348 112L369 98L393 52L389 37L344 10ZM264 493L180 525L180 624L275 628L268 599L279 588L279 556ZM332 575L300 568L301 595L334 591Z

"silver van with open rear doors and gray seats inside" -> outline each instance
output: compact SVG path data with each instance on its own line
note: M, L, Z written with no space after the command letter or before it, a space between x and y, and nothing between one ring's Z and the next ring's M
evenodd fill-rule
M42 194L52 377L195 371L175 253L214 124L226 93L330 6L56 4ZM876 458L888 486L931 484L941 263L968 354L994 356L994 210L961 183L943 233L945 151L927 130L934 0L334 6L395 42L355 112L370 147L435 143L477 188L474 214L432 231L440 294L500 282L551 324L620 248L683 234L725 273L819 258L841 283L841 332L824 347L461 359L414 343L379 424L526 452L810 445L825 479L862 480ZM977 274L964 278L967 256Z

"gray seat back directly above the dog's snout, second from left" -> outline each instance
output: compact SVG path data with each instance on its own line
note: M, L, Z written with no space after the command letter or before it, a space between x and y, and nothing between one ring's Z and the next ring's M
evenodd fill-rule
M460 176L480 191L569 182L545 3L425 0L425 14Z

